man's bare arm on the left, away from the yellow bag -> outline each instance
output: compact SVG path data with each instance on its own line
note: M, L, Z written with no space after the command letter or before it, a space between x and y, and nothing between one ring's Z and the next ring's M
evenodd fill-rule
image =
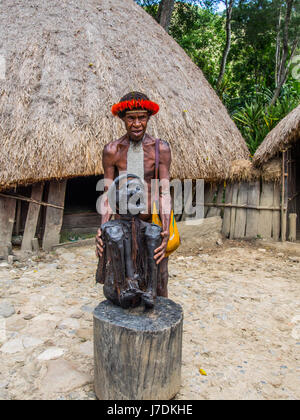
M112 216L112 210L108 203L107 190L114 180L115 175L115 146L111 143L107 144L103 149L102 165L104 170L104 194L101 200L101 225L108 222ZM101 257L103 254L103 242L101 239L101 229L99 228L96 235L96 255Z

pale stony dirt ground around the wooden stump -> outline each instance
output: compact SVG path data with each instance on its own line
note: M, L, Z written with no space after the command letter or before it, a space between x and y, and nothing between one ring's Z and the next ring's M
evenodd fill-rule
M184 310L176 399L300 398L297 249L226 240L170 257L169 297ZM96 398L95 269L92 245L0 262L0 399Z

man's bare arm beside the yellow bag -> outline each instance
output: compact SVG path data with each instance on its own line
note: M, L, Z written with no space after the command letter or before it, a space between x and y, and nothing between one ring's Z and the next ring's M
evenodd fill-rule
M162 243L154 252L156 264L165 257L166 248L170 236L171 195L170 195L170 166L171 149L167 142L160 143L159 147L159 213L162 221Z

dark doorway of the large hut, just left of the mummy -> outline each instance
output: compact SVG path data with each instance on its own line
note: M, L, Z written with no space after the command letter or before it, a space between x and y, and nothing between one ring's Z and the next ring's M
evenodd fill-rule
M96 210L99 191L96 191L100 176L71 178L67 182L65 211L62 224L63 238L77 239L94 234L100 226L100 215ZM70 238L69 238L69 237Z

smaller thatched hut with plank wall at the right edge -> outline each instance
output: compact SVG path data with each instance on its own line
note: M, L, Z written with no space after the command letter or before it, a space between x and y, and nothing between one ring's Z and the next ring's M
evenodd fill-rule
M223 233L230 238L300 239L300 106L283 118L253 161L237 160L227 180Z

